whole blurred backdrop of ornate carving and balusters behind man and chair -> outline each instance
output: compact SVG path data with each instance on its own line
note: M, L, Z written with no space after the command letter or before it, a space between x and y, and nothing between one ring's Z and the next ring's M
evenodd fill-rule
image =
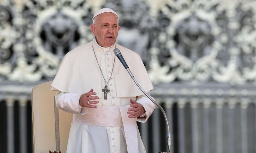
M117 43L139 53L170 120L173 153L256 152L256 0L0 0L0 152L33 152L31 89L89 42L95 11L119 15ZM127 74L128 75L128 74ZM138 123L167 151L156 108Z

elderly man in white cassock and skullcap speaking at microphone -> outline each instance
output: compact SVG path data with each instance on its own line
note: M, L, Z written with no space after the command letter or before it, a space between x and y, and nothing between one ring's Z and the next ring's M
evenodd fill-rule
M113 53L118 48L146 92L153 89L139 55L116 44L116 12L97 11L95 38L69 51L52 83L56 105L73 114L67 153L144 153L136 121L145 122L154 104L141 92Z

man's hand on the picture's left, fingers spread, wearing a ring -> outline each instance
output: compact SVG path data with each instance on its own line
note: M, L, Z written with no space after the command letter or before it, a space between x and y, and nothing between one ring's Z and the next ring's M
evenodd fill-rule
M79 105L81 107L88 107L88 108L97 108L97 106L91 105L91 104L97 104L99 101L90 101L90 100L95 100L99 99L97 96L91 96L91 95L96 95L95 92L93 92L93 89L91 89L89 92L82 94L80 99L79 99ZM90 105L88 105L88 102Z

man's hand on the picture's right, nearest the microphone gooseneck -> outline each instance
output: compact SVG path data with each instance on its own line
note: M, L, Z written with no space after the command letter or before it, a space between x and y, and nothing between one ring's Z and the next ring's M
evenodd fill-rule
M130 99L130 102L131 102L130 106L133 108L128 109L127 114L130 114L128 117L136 118L136 117L139 117L139 116L145 114L145 109L140 103L137 103L132 99Z

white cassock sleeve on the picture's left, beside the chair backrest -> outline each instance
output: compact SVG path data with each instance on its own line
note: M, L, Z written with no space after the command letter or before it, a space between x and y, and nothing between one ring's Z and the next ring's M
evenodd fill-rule
M79 105L81 95L57 91L55 95L56 106L68 113L85 115L88 108Z

